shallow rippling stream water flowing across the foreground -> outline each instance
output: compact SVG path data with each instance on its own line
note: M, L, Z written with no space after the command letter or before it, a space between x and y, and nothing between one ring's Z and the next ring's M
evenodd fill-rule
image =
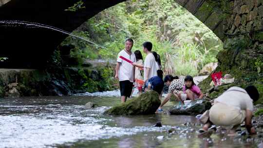
M86 109L87 102L100 107ZM254 148L258 142L213 133L198 137L194 116L112 116L118 97L63 96L0 99L0 148ZM169 102L164 110L173 103ZM154 127L161 121L163 127ZM173 128L173 133L168 132Z

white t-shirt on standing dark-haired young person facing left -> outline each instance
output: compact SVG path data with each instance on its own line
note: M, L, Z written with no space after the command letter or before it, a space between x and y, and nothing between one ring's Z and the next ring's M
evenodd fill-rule
M146 68L150 68L148 79L150 79L152 76L157 76L155 58L152 55L152 53L148 54L145 57L145 61L144 61L144 81L146 80Z

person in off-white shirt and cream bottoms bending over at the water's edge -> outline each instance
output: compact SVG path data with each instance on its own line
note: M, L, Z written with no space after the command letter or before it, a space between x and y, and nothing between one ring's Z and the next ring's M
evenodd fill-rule
M235 128L245 121L245 127L250 134L256 134L252 127L253 101L259 99L256 87L248 86L245 89L231 87L214 100L209 110L209 120L203 129L207 130L212 124L223 126L230 130L229 135L235 134Z

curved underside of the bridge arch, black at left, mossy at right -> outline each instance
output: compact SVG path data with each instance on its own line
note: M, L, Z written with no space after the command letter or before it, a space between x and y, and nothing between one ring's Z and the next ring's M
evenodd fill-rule
M78 0L77 0L78 1ZM82 0L85 8L65 11L75 0L0 0L0 21L20 20L54 26L72 32L100 11L125 0ZM209 0L175 0L204 22L221 39L224 38L221 9ZM1 68L41 68L47 58L67 37L56 31L0 23Z

